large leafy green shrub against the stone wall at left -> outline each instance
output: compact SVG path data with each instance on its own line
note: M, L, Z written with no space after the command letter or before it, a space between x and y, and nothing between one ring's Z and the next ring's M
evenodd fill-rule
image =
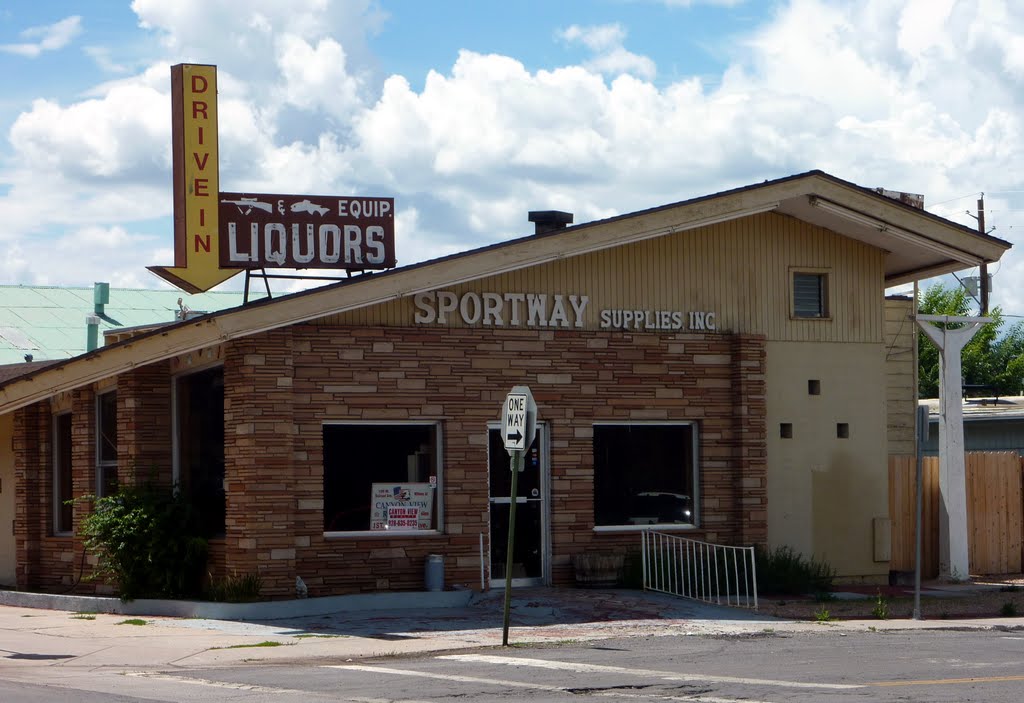
M93 578L115 582L123 601L199 595L207 542L184 491L145 483L79 500L93 503L80 527L98 558Z

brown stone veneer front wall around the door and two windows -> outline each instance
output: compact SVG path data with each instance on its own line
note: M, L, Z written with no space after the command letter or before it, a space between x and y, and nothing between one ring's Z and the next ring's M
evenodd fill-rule
M555 583L572 580L574 554L639 545L592 529L595 422L696 422L701 526L687 535L764 542L760 337L298 325L228 345L227 571L260 573L275 597L296 574L311 596L417 589L442 554L446 583L478 583L486 424L517 384L551 431ZM346 420L441 422L442 534L324 536L323 423Z

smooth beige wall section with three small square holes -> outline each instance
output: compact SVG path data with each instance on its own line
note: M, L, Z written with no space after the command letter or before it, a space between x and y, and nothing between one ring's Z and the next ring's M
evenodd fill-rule
M873 561L871 521L889 515L884 345L777 342L766 355L768 543L825 559L840 576L882 579L889 562Z

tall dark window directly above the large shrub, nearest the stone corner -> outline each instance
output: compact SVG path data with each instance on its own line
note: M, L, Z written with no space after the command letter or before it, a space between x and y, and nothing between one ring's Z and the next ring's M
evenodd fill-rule
M177 381L178 478L199 514L203 534L224 534L224 370Z

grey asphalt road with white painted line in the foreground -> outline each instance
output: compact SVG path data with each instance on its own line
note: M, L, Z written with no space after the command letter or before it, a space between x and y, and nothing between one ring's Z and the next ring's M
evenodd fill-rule
M37 668L0 701L985 701L1024 699L1024 632L765 631L131 674Z

